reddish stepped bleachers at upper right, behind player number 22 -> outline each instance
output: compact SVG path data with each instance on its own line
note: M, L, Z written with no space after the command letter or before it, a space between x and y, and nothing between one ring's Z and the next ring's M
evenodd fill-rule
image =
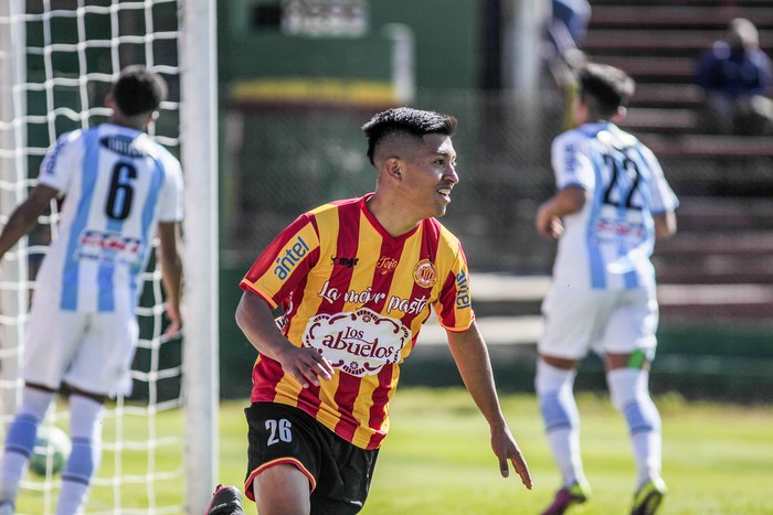
M680 196L677 237L655 262L661 312L670 321L765 321L772 313L773 142L770 136L716 135L699 116L693 60L726 35L733 18L752 20L773 49L766 0L591 0L584 51L636 79L621 127L660 159ZM691 289L686 289L690 287Z

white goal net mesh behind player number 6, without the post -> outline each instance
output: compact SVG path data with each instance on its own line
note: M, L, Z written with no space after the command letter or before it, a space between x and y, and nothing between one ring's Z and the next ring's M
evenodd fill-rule
M176 0L12 0L0 8L0 223L34 186L45 150L62 132L106 121L104 97L127 65L144 64L167 79L169 99L148 132L179 157L178 9ZM0 265L2 428L19 401L29 301L57 221L54 203ZM181 342L162 336L161 273L153 259L144 279L134 389L106 406L102 466L86 513L183 511ZM65 398L44 423L66 429L67 422ZM18 513L54 513L60 486L59 475L30 473Z

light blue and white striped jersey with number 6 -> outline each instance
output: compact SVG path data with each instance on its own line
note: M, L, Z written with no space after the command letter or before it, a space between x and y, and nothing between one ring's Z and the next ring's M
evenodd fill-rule
M35 297L68 311L133 310L158 223L182 219L179 161L141 131L103 124L62 135L39 183L64 202Z

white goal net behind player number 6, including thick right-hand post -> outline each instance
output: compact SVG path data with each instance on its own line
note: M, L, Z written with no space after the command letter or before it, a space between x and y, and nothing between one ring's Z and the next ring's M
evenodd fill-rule
M212 199L216 150L211 147L216 144L216 124L213 95L207 87L211 83L201 81L215 72L213 45L186 50L190 41L207 45L213 40L207 20L214 17L212 6L213 0L0 0L0 224L34 185L46 148L62 132L107 119L105 94L120 69L131 64L144 64L167 79L169 98L148 132L181 159L186 212L198 210L193 216L203 217L202 224L187 216L183 225L183 230L186 225L200 229L193 237L184 235L187 247L198 247L184 253L187 281L199 282L184 294L205 296L203 301L186 300L183 305L183 334L195 336L169 341L162 336L161 277L151 259L137 311L140 342L134 391L107 404L104 453L92 484L88 514L200 513L214 482L218 324L213 314L216 286L211 278L218 276L216 238L212 238L216 232ZM205 17L203 25L199 17ZM187 30L198 34L184 34ZM187 61L186 55L195 54L195 60ZM191 65L184 67L186 62ZM186 85L191 83L198 83L197 90L188 95ZM184 111L183 98L198 107ZM181 120L197 129L181 133ZM215 132L202 132L199 126ZM189 210L191 205L197 210ZM35 272L46 244L57 236L56 223L57 206L52 204L50 213L0 262L3 439L23 385L18 371ZM202 250L202 246L207 247ZM198 256L194 262L188 259L191 256ZM200 361L188 363L190 355ZM62 397L44 425L67 428L66 397ZM193 476L191 470L197 471ZM18 513L54 513L59 487L59 476L50 471L29 473L17 502Z

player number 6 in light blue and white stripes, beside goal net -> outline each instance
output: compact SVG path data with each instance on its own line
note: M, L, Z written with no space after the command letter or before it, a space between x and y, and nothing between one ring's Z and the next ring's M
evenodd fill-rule
M1 258L54 199L64 197L59 237L36 277L21 405L0 464L1 515L13 513L38 428L62 383L70 389L72 452L56 513L82 509L102 457L103 404L131 386L139 275L157 234L167 336L181 328L182 173L178 160L144 132L166 95L158 74L126 68L106 99L109 120L59 138L38 185L0 234Z

